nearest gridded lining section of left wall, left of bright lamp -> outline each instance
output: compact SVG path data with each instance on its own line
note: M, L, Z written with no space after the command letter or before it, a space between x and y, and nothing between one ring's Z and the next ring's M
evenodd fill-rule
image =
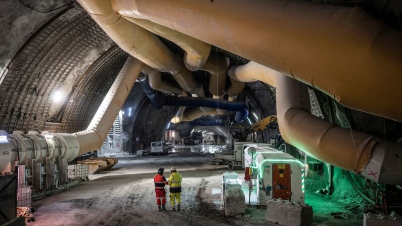
M11 62L0 85L0 129L43 130L52 90L105 38L78 7L42 28Z

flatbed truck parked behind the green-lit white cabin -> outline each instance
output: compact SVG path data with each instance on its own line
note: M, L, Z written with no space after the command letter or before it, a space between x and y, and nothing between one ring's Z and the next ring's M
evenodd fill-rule
M244 168L244 149L251 144L255 146L271 146L263 143L235 142L233 150L215 152L215 159L211 161L211 164L228 165L229 170L234 170L236 167Z

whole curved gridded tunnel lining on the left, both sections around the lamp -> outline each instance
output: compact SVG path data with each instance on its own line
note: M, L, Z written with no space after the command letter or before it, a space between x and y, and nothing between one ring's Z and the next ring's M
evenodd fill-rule
M0 85L1 129L43 130L52 116L51 94L66 81L75 92L67 105L62 131L85 128L126 58L127 54L75 5L33 35L9 64Z

